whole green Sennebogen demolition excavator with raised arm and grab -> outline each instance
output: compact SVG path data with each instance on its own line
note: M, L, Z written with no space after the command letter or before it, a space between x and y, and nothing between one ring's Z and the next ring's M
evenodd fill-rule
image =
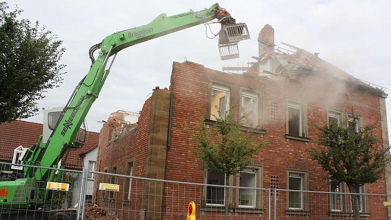
M212 20L217 21L211 22ZM219 37L221 60L238 58L238 42L250 39L247 26L245 23L236 23L218 3L202 11L190 10L173 16L160 14L149 24L113 33L101 43L93 45L89 49L92 64L87 75L77 85L65 108L57 115L49 115L49 122L52 122L49 127L53 127L50 136L41 135L38 143L22 155L22 164L57 168L61 159L62 164L65 164L69 150L80 148L84 144L86 132L81 131L80 127L92 103L98 98L112 62L120 50L198 24L211 23L221 24L220 31L215 35ZM99 55L95 59L93 54L96 50L99 50ZM113 57L108 65L111 56ZM62 173L56 174L56 170L32 167L23 167L22 172L0 174L1 213L7 209L29 210L42 207L49 195L46 183L58 182L61 177ZM3 214L0 219L3 219L2 216Z

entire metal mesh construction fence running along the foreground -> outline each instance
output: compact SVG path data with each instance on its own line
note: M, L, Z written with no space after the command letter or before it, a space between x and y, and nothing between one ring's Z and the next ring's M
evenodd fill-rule
M13 198L1 197L1 189L22 178L20 167L56 170L67 188L48 189L37 181L25 191L18 186ZM0 174L1 220L184 220L190 201L196 218L204 220L225 219L225 207L230 220L341 220L352 219L353 195L359 195L361 219L384 220L389 218L384 202L391 200L391 195L223 186L2 162ZM31 198L31 191L43 193L34 197L43 202ZM18 205L4 205L4 199Z

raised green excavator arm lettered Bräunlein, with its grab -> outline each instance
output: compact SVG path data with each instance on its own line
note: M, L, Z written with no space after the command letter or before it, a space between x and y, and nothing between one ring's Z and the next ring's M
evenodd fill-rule
M78 131L92 103L98 98L109 75L112 61L120 50L214 19L222 26L219 32L220 45L249 39L247 26L243 23L236 24L235 19L216 3L197 12L191 10L173 16L160 14L149 24L116 32L107 36L102 43L92 46L89 51L92 65L87 75L75 88L47 142L43 143L41 137L40 142L30 148L23 157L23 164L57 168L58 161L70 149L80 147L75 141ZM93 53L98 49L99 55L95 60ZM114 57L107 68L110 56ZM60 175L56 176L54 170L24 168L24 177L28 184L33 184L31 180L53 181ZM0 188L3 188L1 182Z

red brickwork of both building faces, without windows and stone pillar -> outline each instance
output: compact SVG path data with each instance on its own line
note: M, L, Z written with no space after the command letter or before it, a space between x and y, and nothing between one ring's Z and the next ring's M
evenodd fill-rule
M317 162L311 160L311 156L306 150L317 147L314 143L319 131L313 126L326 124L326 108L342 110L349 113L353 108L354 112L362 115L363 124L375 125L374 135L381 139L379 99L375 95L360 91L354 85L347 86L345 83L330 77L315 75L315 73L294 74L286 78L270 80L265 77L256 76L256 74L228 74L220 71L205 68L202 65L192 62L174 63L171 76L170 90L174 92L173 126L172 126L172 146L167 149L165 179L178 180L185 182L203 183L203 171L197 165L196 155L192 149L193 145L190 134L185 127L195 129L200 124L201 116L207 116L208 86L209 81L225 82L233 85L231 96L234 96L234 102L238 104L239 88L249 88L261 91L263 94L263 118L266 133L254 135L257 141L268 140L269 143L264 146L259 154L254 155L255 164L263 165L263 188L270 187L270 176L279 177L279 188L286 188L286 169L294 168L308 171L309 190L328 191L328 184L324 177L326 173L321 169ZM307 135L311 139L308 145L304 141L285 138L285 111L286 99L295 99L303 101L306 106L307 116ZM278 121L271 119L271 102L278 103ZM148 144L148 133L151 115L151 98L149 98L141 112L139 126L121 139L113 141L107 146L109 129L105 125L101 131L102 142L100 144L98 168L103 171L108 167L111 172L113 164L117 165L117 173L125 174L126 160L134 158L133 176L144 176L146 165L146 154ZM345 115L346 116L346 115ZM382 148L381 143L379 147ZM102 175L97 176L96 183L102 182ZM109 178L107 180L109 182ZM118 178L117 184L120 185L120 191L123 190L124 179ZM234 178L234 185L236 185ZM132 192L141 196L142 182L133 180ZM182 189L183 188L183 189ZM385 194L385 180L382 178L374 184L369 184L368 193ZM191 192L187 192L191 191ZM187 209L189 198L196 198L197 215L200 214L202 188L198 186L164 184L164 193L162 198L163 219L182 218ZM100 196L97 190L97 195ZM132 193L132 194L133 194ZM123 217L138 216L134 210L139 210L141 199L133 198L130 205L122 203L122 193L115 194L115 200L108 202L109 193L106 194L106 200L98 204L107 210L116 210L117 214ZM182 195L182 196L179 196ZM235 200L235 193L233 194ZM327 206L328 199L319 195L311 195L309 202L316 205ZM384 198L368 198L370 207L378 207L378 211L371 211L370 218L385 218L386 209L383 206ZM263 207L267 205L267 193L263 193ZM278 197L279 216L285 215L284 207L281 203L285 202L285 194L280 193ZM327 216L328 208L322 210L313 210L309 217ZM133 211L130 211L133 210ZM383 212L384 210L384 212ZM148 211L148 210L147 210ZM265 213L267 210L265 211ZM209 219L208 215L223 217L218 212L206 213L201 218ZM250 217L251 214L246 214ZM316 216L315 216L316 215ZM156 216L157 217L157 216ZM197 216L198 217L198 216ZM212 217L211 217L212 218ZM126 218L125 218L126 219ZM136 218L135 218L136 219ZM295 219L297 219L295 217Z

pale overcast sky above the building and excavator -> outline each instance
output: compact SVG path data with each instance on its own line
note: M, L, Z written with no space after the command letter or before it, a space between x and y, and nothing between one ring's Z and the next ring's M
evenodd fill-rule
M168 16L210 7L205 0L12 0L23 9L22 18L38 20L64 41L66 64L64 83L49 90L39 102L40 109L64 106L74 87L87 74L88 49L115 31L151 22L161 13ZM221 70L237 66L258 56L258 32L268 23L275 29L275 42L285 42L309 52L343 69L356 78L389 88L391 1L388 0L227 0L219 2L236 18L245 22L251 40L239 43L240 58L220 61L217 38L205 36L198 25L118 53L99 98L87 114L90 131L99 132L110 112L141 110L152 88L169 87L173 61L187 60ZM219 24L212 26L216 33ZM390 99L390 98L389 98ZM391 112L390 100L387 101ZM26 120L43 122L40 114ZM388 124L391 115L388 113ZM391 129L389 129L390 131Z

